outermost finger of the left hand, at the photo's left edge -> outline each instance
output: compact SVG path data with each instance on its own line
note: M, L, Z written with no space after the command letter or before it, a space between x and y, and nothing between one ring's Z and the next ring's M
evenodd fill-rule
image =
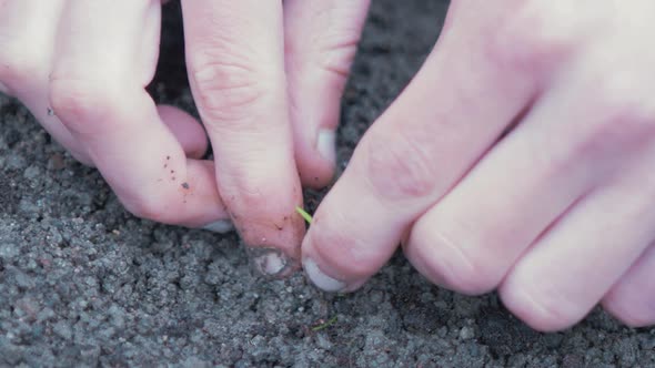
M6 0L0 3L0 91L18 98L41 125L80 162L83 145L52 114L48 74L63 1Z

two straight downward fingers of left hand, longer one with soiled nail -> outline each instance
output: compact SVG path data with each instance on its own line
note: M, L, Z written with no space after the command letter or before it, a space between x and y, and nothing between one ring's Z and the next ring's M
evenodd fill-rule
M219 192L263 274L300 266L301 183L332 180L340 99L367 6L182 0L189 79Z

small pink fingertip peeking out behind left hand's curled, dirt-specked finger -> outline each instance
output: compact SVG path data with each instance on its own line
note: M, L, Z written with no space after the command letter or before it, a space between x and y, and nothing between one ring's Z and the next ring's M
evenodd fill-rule
M189 159L202 159L209 145L206 134L199 122L184 111L160 105L157 108L161 120L175 136Z

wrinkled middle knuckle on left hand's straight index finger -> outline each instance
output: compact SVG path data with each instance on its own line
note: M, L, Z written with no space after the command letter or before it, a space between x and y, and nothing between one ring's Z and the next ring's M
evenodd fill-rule
M253 60L244 57L232 55L226 60L229 53L212 51L202 54L204 57L191 59L190 71L205 117L211 121L248 120L253 108L272 89L266 82L272 80L270 71L255 67Z

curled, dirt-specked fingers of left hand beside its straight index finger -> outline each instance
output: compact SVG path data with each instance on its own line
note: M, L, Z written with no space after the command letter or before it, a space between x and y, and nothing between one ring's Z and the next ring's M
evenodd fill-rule
M17 96L140 217L200 227L228 218L202 125L155 106L158 1L0 0L0 90Z

